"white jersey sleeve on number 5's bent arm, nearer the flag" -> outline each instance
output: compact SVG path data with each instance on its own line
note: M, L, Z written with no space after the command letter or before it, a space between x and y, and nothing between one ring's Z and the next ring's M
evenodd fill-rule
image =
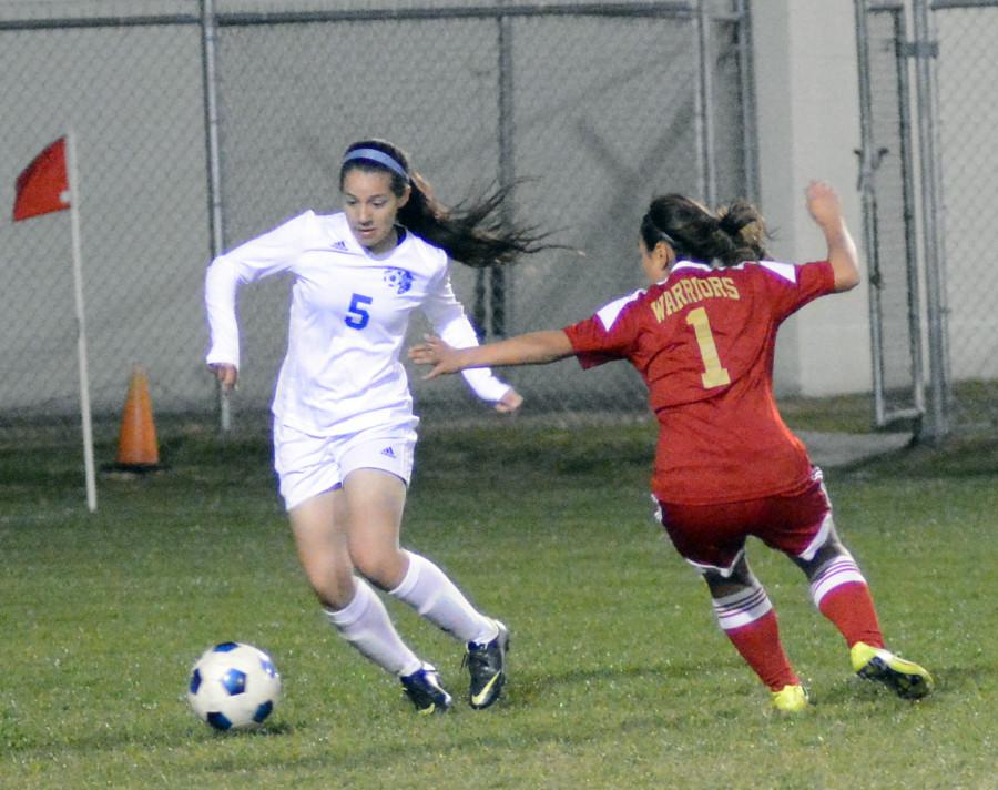
M240 366L238 286L287 271L301 252L302 240L307 237L303 229L314 223L314 212L306 212L212 261L204 284L211 336L206 362L210 365Z

